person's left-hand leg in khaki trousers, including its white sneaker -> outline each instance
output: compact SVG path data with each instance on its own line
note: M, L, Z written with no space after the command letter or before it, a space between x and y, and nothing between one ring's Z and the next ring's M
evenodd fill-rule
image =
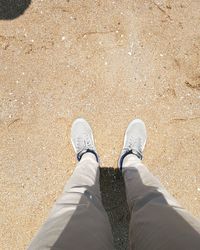
M87 126L82 119L73 124L72 143L79 163L29 250L113 249L111 226L101 202L98 157ZM74 139L73 132L79 138Z

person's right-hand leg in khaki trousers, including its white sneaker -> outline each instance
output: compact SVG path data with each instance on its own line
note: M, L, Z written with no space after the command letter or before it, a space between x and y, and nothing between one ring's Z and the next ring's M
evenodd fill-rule
M126 147L120 157L131 213L130 249L200 249L200 222L142 164L145 141L145 126L136 120L126 131Z

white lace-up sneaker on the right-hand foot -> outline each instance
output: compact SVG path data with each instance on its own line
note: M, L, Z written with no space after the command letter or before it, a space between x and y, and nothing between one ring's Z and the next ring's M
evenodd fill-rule
M144 122L140 119L133 120L125 132L124 146L118 162L120 169L122 169L123 159L128 154L134 154L142 160L146 139L147 132Z

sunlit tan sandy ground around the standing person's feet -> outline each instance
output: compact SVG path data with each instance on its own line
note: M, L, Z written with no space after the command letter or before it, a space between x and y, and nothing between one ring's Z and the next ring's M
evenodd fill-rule
M142 118L145 163L200 217L199 0L33 0L0 20L0 98L1 249L26 249L61 193L78 116L103 167Z

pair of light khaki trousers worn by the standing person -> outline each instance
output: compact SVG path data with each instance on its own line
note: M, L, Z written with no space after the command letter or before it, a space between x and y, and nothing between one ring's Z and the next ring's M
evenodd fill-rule
M131 250L199 250L200 222L180 207L134 155L123 162ZM29 250L113 250L99 166L83 155Z

